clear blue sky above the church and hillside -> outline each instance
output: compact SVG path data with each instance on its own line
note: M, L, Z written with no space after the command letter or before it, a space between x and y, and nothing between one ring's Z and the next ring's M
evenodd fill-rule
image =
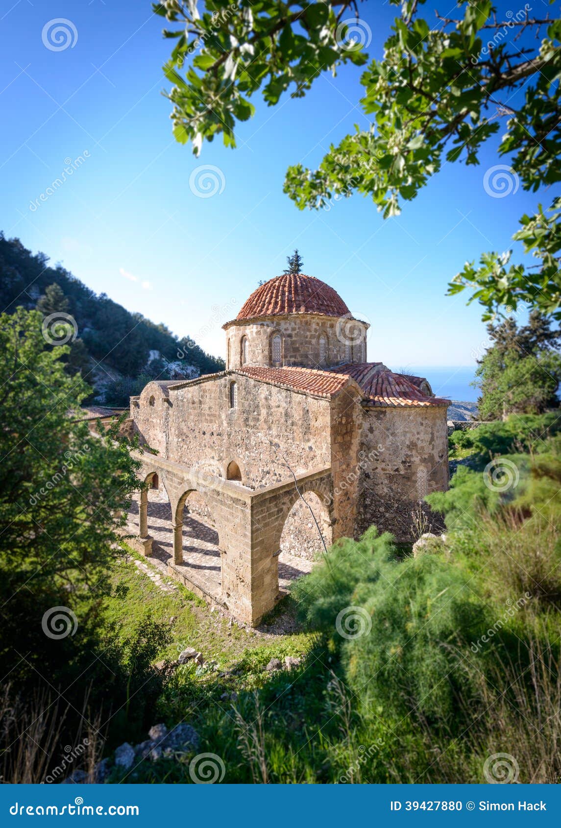
M370 0L360 11L372 30L368 52L379 57L396 8ZM282 192L285 169L316 166L354 123L367 126L356 106L361 70L325 75L304 99L285 97L276 108L254 99L256 116L237 130L237 149L215 141L195 158L171 134L161 65L173 41L161 37L150 2L2 0L0 18L7 236L213 354L224 354L223 322L261 279L282 272L295 247L304 272L371 323L368 359L459 366L481 354L481 310L445 297L447 282L482 251L510 248L520 215L539 200L521 189L487 195L485 172L505 162L494 147L481 166L445 165L398 218L384 221L362 196L300 212ZM77 32L64 51L41 39L55 18ZM37 205L79 156L68 181ZM218 167L224 182L212 198L189 190L201 165Z

